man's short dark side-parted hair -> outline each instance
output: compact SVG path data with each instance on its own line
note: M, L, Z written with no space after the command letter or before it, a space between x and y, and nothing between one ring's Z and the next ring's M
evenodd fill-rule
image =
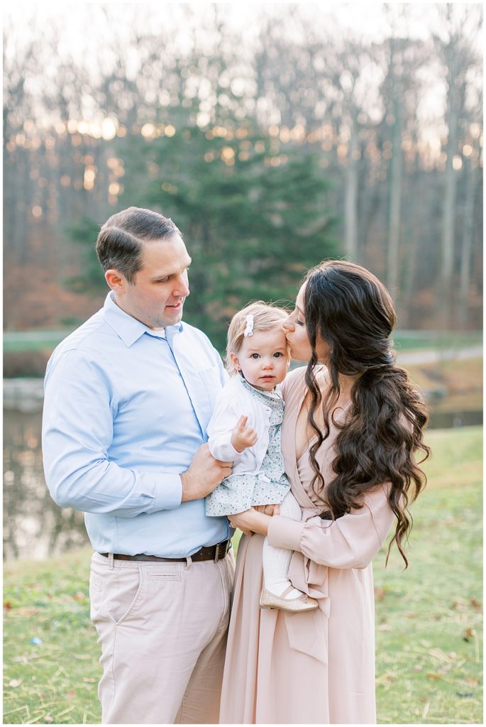
M143 243L163 241L174 235L181 233L169 217L151 209L129 207L112 214L102 226L96 241L98 260L105 273L114 268L133 284L142 268Z

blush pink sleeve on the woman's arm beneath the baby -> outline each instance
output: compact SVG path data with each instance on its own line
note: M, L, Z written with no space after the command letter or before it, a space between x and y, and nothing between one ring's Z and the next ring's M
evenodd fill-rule
M393 523L388 489L383 485L369 492L363 507L335 521L315 517L298 523L275 515L268 528L268 542L296 550L330 568L366 568L383 546Z

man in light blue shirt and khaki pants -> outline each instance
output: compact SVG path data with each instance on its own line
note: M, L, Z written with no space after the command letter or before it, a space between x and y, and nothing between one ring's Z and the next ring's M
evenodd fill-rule
M182 323L191 260L174 222L130 207L97 254L110 293L49 361L43 450L95 551L102 720L217 723L234 560L202 498L231 471L205 443L224 369Z

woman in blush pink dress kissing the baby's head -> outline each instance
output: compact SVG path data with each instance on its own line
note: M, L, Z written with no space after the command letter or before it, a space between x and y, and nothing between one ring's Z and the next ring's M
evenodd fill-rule
M392 300L365 268L333 260L311 270L284 323L291 356L308 361L283 383L285 472L302 521L247 510L221 723L376 723L371 561L392 542L407 566L407 505L424 486L426 412L389 335ZM321 366L320 364L324 364ZM319 601L303 614L259 608L262 542L294 553L293 585Z

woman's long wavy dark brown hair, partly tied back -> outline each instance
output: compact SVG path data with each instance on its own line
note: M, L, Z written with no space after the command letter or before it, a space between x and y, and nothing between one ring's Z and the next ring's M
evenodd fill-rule
M312 487L324 489L316 454L329 435L333 410L340 395L339 375L356 376L351 406L336 438L336 477L325 489L326 509L321 518L335 520L363 507L365 492L389 483L389 504L397 518L393 542L408 560L403 539L408 540L412 517L408 505L425 486L418 467L429 457L424 443L428 423L426 406L410 384L407 371L395 365L390 334L397 322L392 298L369 270L352 262L328 260L307 273L304 314L312 346L305 374L311 393L308 421L316 441L309 448L315 472ZM316 344L324 340L330 349L326 361L331 386L325 396L315 377L319 364ZM324 428L315 413L323 410ZM418 458L417 453L422 457Z

